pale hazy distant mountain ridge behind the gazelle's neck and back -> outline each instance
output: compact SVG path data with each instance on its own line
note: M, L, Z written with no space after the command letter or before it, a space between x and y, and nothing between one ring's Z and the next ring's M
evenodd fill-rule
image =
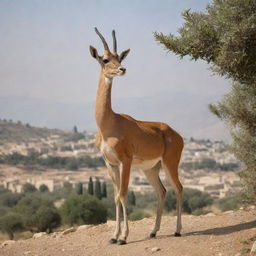
M184 137L229 140L227 128L208 110L213 96L200 98L188 93L146 98L113 99L113 109L138 120L163 121ZM61 103L42 99L0 97L0 118L38 127L96 131L94 102Z

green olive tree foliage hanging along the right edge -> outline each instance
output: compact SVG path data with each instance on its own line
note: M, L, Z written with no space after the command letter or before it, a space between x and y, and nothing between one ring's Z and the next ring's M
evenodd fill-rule
M166 50L205 60L232 81L231 91L209 108L230 127L231 149L244 163L244 198L251 203L256 202L255 13L255 0L213 0L205 12L183 12L178 36L154 34Z

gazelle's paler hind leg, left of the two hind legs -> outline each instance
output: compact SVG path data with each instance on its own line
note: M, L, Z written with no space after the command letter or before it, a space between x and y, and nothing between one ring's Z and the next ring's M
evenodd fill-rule
M146 175L146 178L148 179L149 183L153 186L157 193L158 197L158 205L157 205L157 212L156 212L156 222L153 230L150 233L150 237L155 237L157 231L160 229L161 225L161 217L163 213L163 207L164 207L164 199L166 195L166 189L161 182L159 178L159 170L160 170L159 164L157 164L154 168L150 170L143 171Z

